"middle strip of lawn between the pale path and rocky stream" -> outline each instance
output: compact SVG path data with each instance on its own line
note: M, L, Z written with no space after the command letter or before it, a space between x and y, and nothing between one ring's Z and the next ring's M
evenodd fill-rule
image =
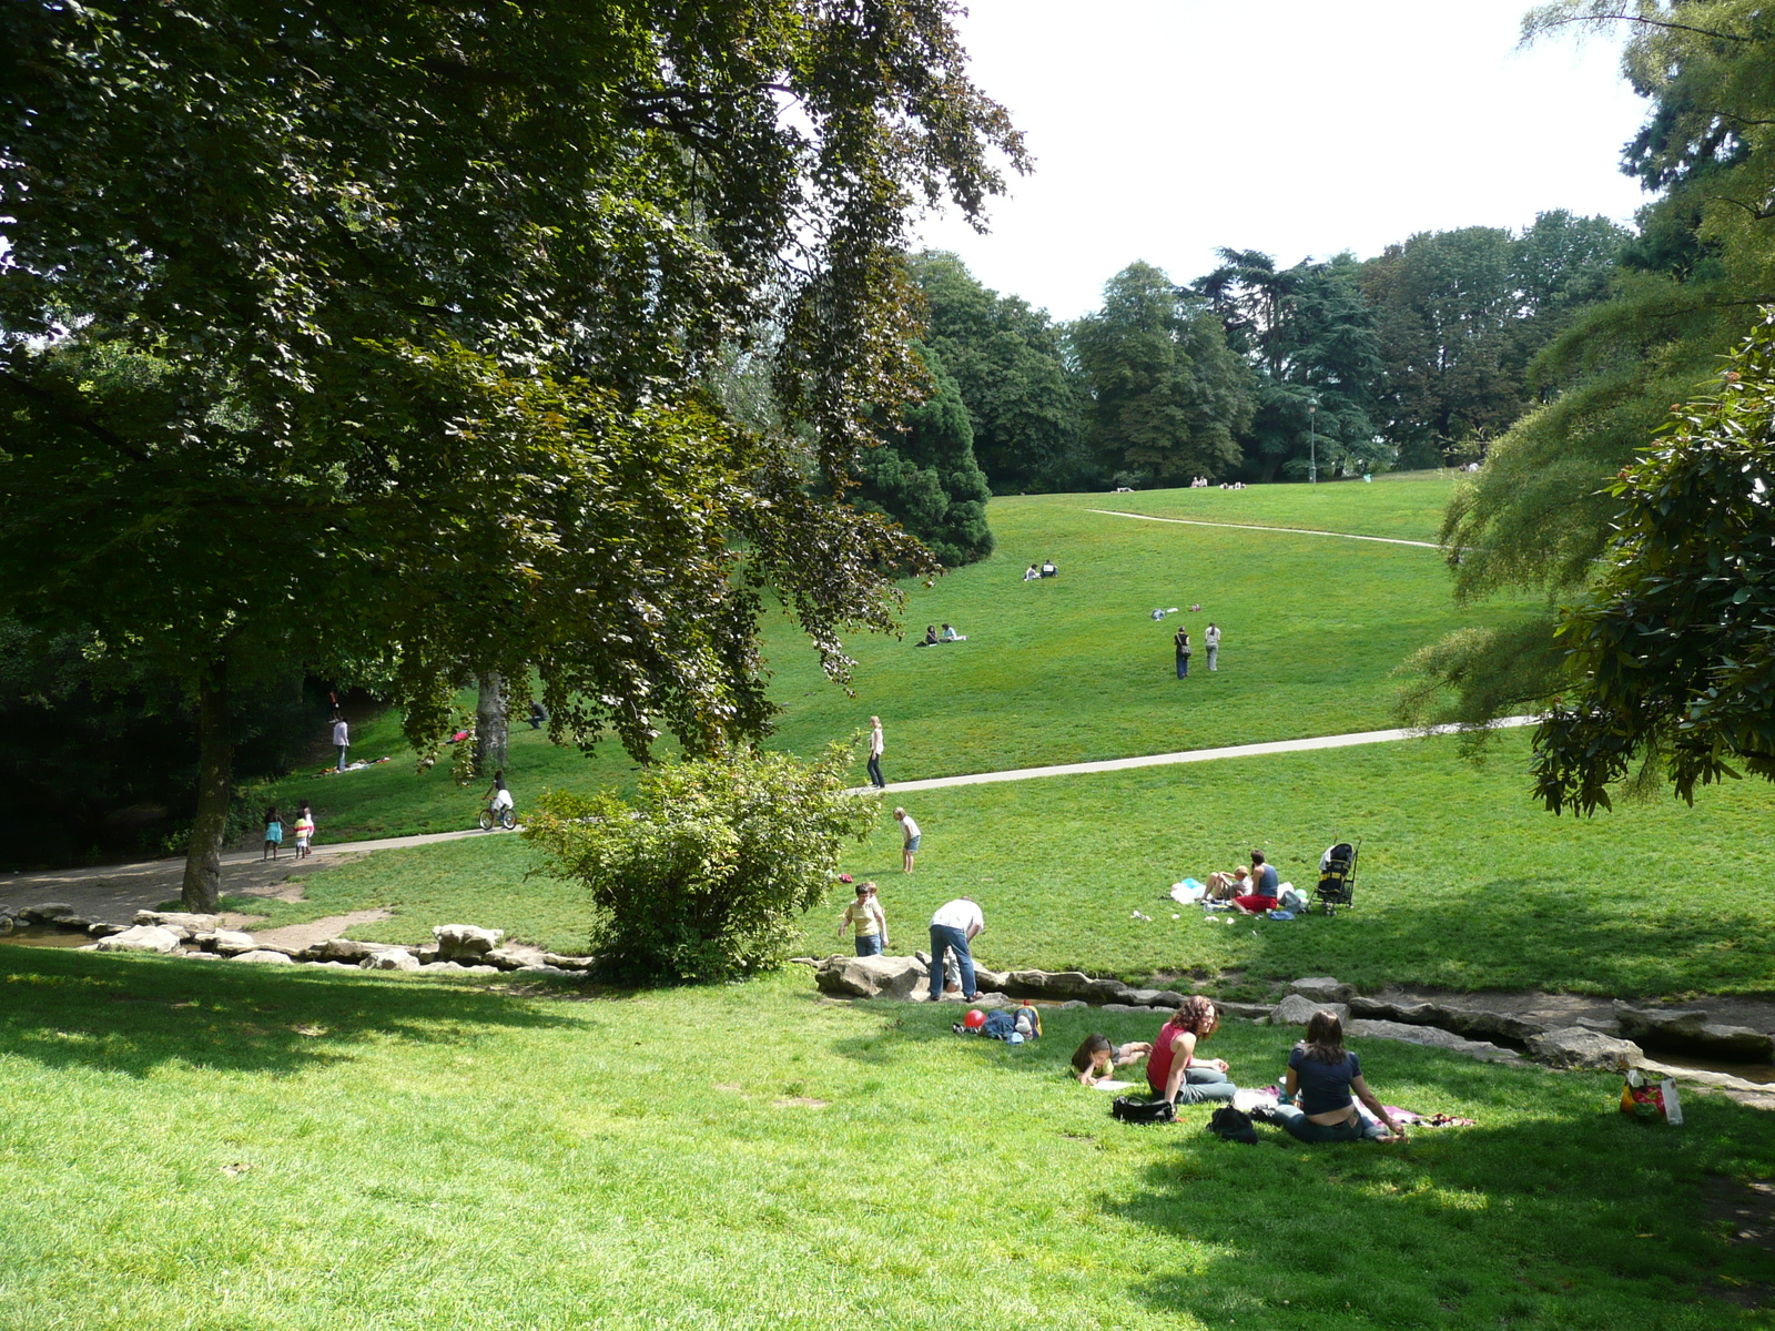
M903 797L925 832L911 878L886 815L845 868L880 882L898 951L927 946L939 903L974 896L980 958L1001 969L1195 973L1228 997L1301 974L1621 997L1775 990L1775 786L1553 818L1525 795L1526 744L1509 733L1477 770L1452 738L1432 738L923 792ZM1333 834L1363 839L1353 912L1209 923L1166 896L1251 845L1310 891ZM422 942L431 925L465 921L579 951L580 893L524 878L532 862L511 836L378 852L311 875L309 900L273 903L270 923L389 907L394 919L353 933ZM841 905L809 918L809 951L843 946L831 923Z

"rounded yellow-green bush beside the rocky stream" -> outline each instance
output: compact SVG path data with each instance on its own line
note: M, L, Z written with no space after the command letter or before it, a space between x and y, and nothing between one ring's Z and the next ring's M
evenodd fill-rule
M634 806L552 792L524 836L547 852L543 871L591 889L607 978L754 974L788 957L845 838L875 825L879 800L845 793L850 763L838 744L815 763L753 751L673 763L643 776Z

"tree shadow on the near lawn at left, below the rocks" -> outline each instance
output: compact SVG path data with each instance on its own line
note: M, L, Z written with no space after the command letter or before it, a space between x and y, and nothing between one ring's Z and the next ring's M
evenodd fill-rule
M293 1074L346 1061L369 1040L453 1045L572 1024L529 997L449 981L0 949L0 1056L51 1068Z

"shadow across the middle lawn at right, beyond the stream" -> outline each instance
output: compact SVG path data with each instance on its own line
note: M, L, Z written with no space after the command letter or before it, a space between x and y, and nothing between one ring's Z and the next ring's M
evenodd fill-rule
M1425 894L1411 905L1356 893L1333 918L1258 921L1250 969L1335 974L1354 985L1553 988L1642 997L1766 990L1775 935L1754 903L1708 916L1647 889L1624 902L1521 878Z

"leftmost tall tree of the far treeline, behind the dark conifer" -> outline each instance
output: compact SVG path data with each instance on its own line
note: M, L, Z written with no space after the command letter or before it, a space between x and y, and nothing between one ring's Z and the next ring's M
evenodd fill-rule
M1060 327L1047 311L989 291L953 254L927 250L907 266L928 309L925 343L957 383L994 492L1074 484L1085 392Z

